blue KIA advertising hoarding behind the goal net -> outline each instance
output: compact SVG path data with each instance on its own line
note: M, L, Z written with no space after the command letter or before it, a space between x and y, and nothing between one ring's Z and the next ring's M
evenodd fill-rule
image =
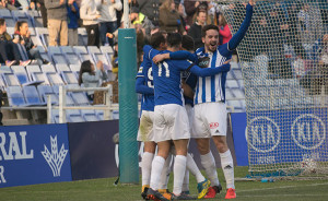
M243 126L245 121L241 119L245 119L245 115L242 116L232 115L238 165L241 161L245 163L247 153L253 165L291 163L305 158L328 161L327 108L249 113L247 127L245 123ZM245 144L249 146L248 151Z

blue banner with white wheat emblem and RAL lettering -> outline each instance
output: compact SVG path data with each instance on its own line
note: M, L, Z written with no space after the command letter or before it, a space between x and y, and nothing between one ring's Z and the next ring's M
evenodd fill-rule
M0 188L71 180L67 125L0 127Z

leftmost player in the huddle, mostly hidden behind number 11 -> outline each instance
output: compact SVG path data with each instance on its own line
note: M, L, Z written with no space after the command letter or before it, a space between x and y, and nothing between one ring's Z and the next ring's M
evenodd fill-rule
M166 44L153 43L154 48L165 50ZM141 162L142 188L141 197L147 198L147 191L150 187L150 176L152 161L155 153L156 143L153 134L154 120L154 84L152 61L149 58L149 51L144 52L143 61L139 68L136 81L136 92L142 94L141 118L137 140L144 143L143 155Z

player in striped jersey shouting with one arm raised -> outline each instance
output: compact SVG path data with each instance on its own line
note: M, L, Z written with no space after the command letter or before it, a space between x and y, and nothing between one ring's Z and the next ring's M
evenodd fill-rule
M219 28L215 25L206 25L202 28L203 48L199 48L195 55L189 52L171 52L159 55L154 62L163 59L194 59L202 68L220 67L232 57L232 51L244 38L251 21L253 0L246 5L246 16L239 31L232 39L221 46L219 44ZM215 168L215 161L210 151L210 138L212 137L221 157L222 169L226 180L226 199L236 198L234 186L233 158L226 144L226 106L225 106L225 80L226 72L216 75L199 78L195 94L194 131L198 150L201 154L201 164L211 180L206 198L214 198L220 191L220 182Z

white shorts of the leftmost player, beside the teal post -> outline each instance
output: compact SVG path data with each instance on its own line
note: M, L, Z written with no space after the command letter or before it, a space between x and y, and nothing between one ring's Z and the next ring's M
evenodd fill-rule
M141 142L154 141L154 111L142 110L137 140Z

